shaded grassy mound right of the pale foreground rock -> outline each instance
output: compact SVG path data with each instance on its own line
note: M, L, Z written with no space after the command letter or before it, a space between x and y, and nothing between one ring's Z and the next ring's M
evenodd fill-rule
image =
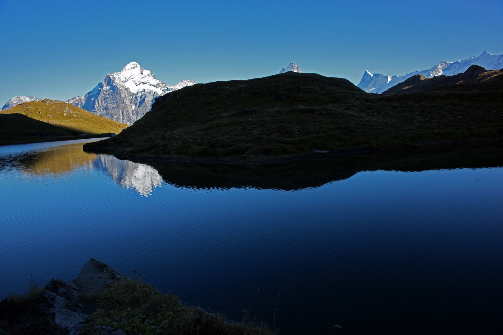
M139 279L127 279L85 296L98 310L91 315L82 334L94 334L104 325L127 334L246 334L276 332L257 320L229 322L220 313L209 313L182 304L178 295L162 294Z

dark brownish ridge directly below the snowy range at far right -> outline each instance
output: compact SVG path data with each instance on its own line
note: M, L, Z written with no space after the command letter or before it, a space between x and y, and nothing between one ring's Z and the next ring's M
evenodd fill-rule
M494 72L496 71L496 72ZM427 89L438 90L441 86L463 85L472 82L481 82L482 78L494 80L494 75L498 75L501 70L487 71L482 66L472 65L465 72L453 76L437 76L427 78L421 74L416 74L403 82L388 88L382 94L418 92ZM501 72L503 74L503 72ZM495 83L492 83L493 85ZM457 89L457 88L456 88Z

